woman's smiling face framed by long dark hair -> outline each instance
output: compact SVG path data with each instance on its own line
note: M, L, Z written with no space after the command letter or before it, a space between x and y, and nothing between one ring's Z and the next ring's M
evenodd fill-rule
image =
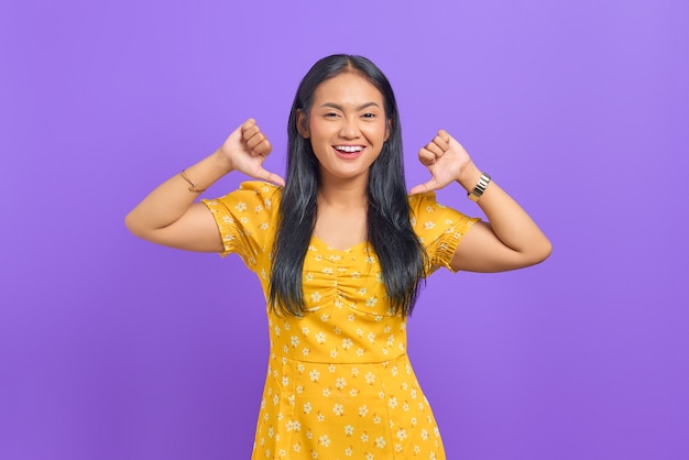
M390 135L383 95L359 74L346 72L320 84L308 120L297 116L299 133L310 140L320 165L321 184L359 180Z

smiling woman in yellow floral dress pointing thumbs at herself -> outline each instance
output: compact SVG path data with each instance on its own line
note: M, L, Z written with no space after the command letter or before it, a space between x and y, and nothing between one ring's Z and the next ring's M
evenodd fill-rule
M361 56L328 56L289 114L286 180L248 120L127 217L136 236L238 253L261 280L271 337L253 458L445 458L406 354L419 283L438 267L496 272L545 260L528 215L446 131L419 151L430 179L407 196L390 84ZM260 179L195 202L230 172ZM488 217L435 200L457 182ZM276 185L273 185L276 184Z

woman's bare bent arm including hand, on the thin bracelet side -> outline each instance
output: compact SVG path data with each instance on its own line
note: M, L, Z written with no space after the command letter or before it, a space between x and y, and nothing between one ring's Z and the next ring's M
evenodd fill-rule
M188 167L185 175L203 190L232 171L248 176L284 184L282 177L263 169L271 144L254 120L247 120L212 154ZM208 208L195 202L199 193L177 174L158 185L134 209L124 222L144 240L198 252L221 252L222 241Z

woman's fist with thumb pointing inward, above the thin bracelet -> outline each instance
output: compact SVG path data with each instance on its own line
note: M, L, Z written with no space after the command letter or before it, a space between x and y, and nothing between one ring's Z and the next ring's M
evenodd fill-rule
M250 118L228 136L219 152L232 171L284 186L285 180L281 176L263 168L263 162L272 150L273 146L256 121Z

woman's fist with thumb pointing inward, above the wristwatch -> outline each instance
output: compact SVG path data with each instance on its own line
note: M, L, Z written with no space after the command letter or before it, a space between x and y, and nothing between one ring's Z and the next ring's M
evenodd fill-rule
M469 176L478 172L464 147L445 130L438 131L438 135L418 151L418 160L431 177L427 183L413 187L409 195L437 190L455 180L471 184L473 178Z

